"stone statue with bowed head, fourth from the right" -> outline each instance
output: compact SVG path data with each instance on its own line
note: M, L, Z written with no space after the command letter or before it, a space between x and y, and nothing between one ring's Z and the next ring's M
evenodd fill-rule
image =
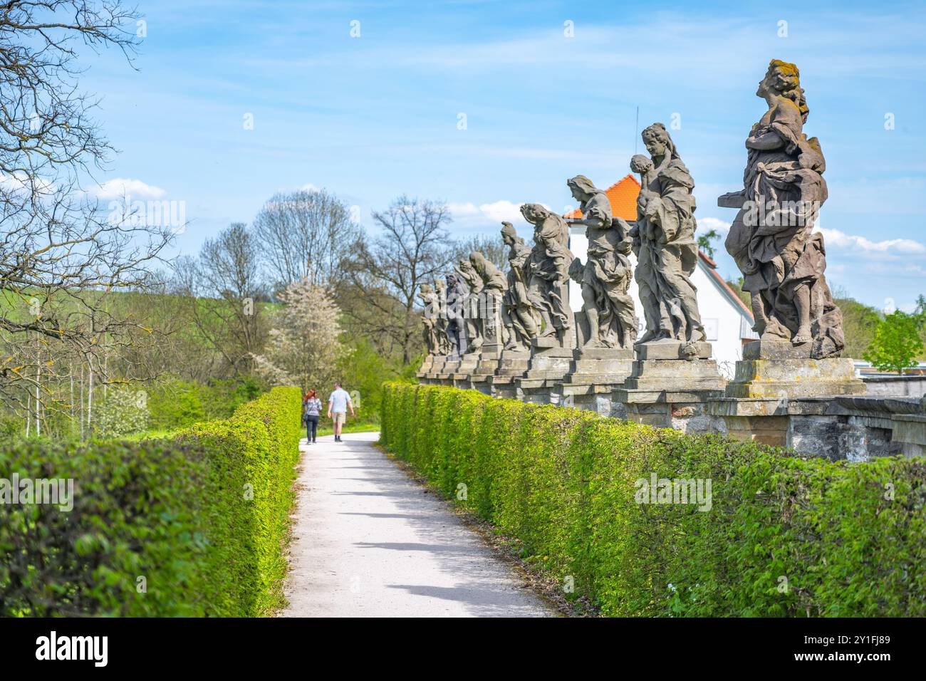
M543 322L539 338L555 337L561 347L569 347L572 310L569 309L569 225L540 204L520 208L524 220L533 225L534 246L528 260L528 299Z

